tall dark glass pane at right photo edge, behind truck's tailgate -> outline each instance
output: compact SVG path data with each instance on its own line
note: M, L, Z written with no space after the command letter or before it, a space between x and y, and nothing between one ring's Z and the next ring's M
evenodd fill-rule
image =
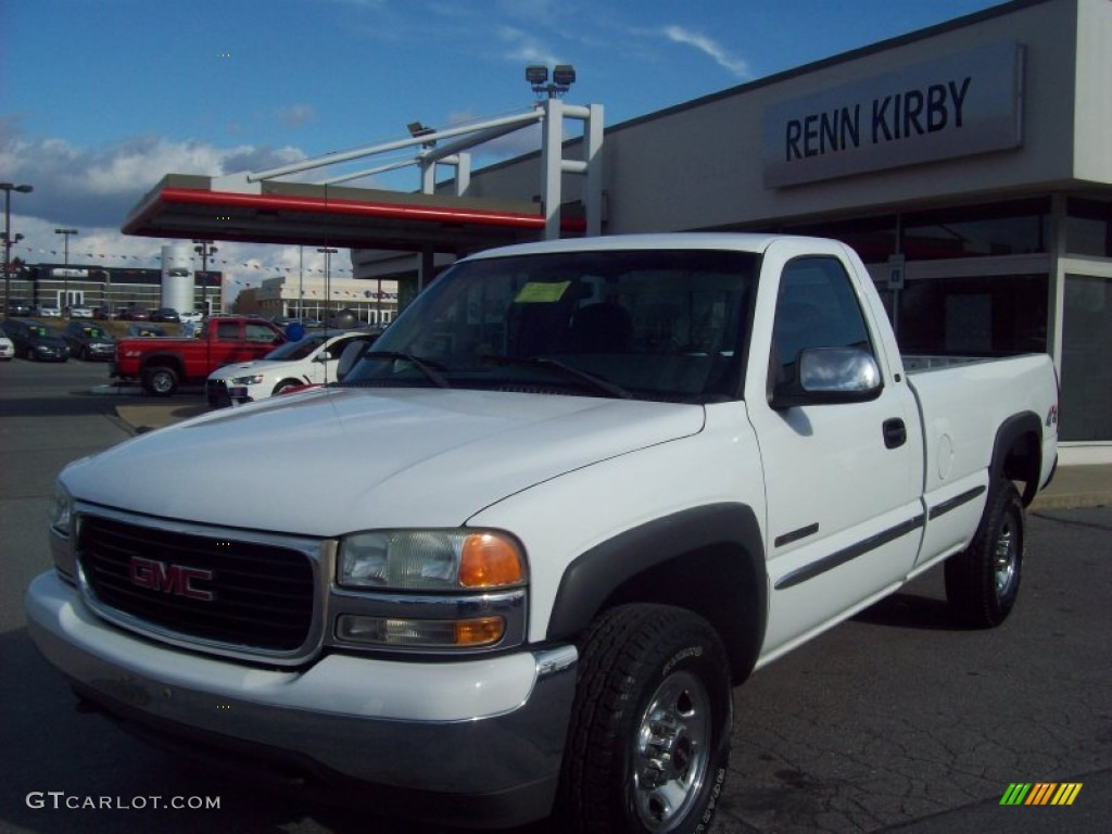
M1112 279L1065 276L1063 440L1112 438Z

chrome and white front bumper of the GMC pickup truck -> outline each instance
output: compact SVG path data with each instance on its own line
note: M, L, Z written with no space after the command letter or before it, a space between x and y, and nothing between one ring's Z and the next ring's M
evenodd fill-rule
M53 572L31 583L26 607L34 644L82 697L148 734L401 791L420 797L406 813L421 818L517 825L552 807L573 646L439 663L330 654L269 669L118 629Z

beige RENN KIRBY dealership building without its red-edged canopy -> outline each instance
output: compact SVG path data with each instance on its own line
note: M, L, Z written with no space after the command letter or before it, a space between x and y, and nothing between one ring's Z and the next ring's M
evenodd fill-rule
M1112 461L1110 44L1110 0L1019 0L612 126L603 231L840 238L902 349L1051 354L1063 459Z

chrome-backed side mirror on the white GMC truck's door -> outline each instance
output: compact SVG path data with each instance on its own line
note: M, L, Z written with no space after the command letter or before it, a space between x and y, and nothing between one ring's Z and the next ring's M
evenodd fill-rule
M865 403L884 383L872 354L861 348L808 348L800 353L794 379L773 390L773 408Z

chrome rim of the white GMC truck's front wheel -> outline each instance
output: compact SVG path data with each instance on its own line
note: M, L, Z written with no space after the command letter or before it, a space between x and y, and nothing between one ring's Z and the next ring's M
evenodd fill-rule
M656 688L642 715L634 749L634 803L653 832L683 822L706 780L711 699L694 675L678 672Z

